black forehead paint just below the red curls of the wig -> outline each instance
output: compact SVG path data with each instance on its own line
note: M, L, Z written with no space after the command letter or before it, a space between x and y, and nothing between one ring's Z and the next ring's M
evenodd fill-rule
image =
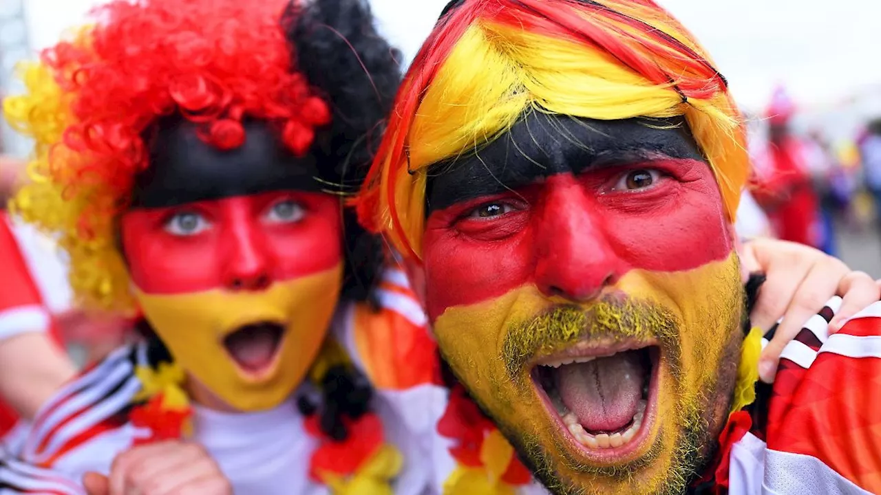
M245 143L221 151L181 118L159 123L150 166L137 174L132 208L163 208L195 201L285 189L319 191L311 155L293 156L266 122L246 121Z

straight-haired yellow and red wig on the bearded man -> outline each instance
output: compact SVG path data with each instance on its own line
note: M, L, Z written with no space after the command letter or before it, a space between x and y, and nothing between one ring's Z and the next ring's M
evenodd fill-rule
M529 112L617 120L684 115L733 221L748 173L727 83L651 0L451 3L403 80L357 200L359 218L418 261L433 164Z

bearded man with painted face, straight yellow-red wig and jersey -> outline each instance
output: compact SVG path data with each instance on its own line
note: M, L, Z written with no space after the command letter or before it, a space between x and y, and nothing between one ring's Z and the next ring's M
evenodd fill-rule
M446 493L526 486L505 439L559 494L881 489L877 307L830 337L831 302L755 401L744 129L666 11L455 1L402 87L359 212L492 418L454 389Z

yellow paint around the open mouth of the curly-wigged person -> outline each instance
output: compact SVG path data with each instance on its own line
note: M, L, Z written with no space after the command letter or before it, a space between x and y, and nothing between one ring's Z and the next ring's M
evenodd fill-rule
M342 263L263 292L211 290L174 295L135 291L144 316L188 373L238 410L282 403L303 378L327 335L337 305ZM236 365L224 338L242 325L273 321L285 328L269 369L259 376Z

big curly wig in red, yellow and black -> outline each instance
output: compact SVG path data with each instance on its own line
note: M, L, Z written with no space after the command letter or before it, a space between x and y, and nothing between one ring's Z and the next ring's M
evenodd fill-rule
M335 3L343 2L330 4ZM331 193L340 191L341 156L351 157L354 168L369 161L360 137L376 127L382 105L389 103L369 107L358 121L330 123L341 115L338 108L359 108L354 100L364 96L359 86L371 87L369 77L352 48L346 48L352 54L348 59L337 55L333 67L316 63L327 55L323 50L336 50L339 43L325 40L304 47L307 53L294 53L280 19L285 13L288 37L297 42L294 33L300 25L294 16L300 10L286 4L115 0L92 11L93 25L45 50L39 63L20 68L27 92L5 100L4 113L36 144L29 165L32 181L11 207L59 235L70 255L70 284L79 302L117 311L133 307L117 220L130 201L136 174L149 166L150 130L164 116L196 122L199 136L219 149L243 143L243 118L270 122L292 152L320 157L322 176L316 179ZM344 26L362 44L374 33L372 26L358 33L365 22L369 26L369 11ZM374 66L388 79L383 90L394 92L389 85L396 85L390 76L396 77L396 64L385 41L374 38L367 51L388 54L374 57ZM308 70L301 70L297 55L309 61ZM316 82L347 85L310 85L310 77L330 69L339 71L338 79ZM334 98L340 100L325 100ZM352 144L340 145L350 137ZM358 174L352 176L358 180ZM347 240L359 246L364 260L377 257L369 248L375 242L356 234ZM357 263L362 271L365 264ZM369 285L372 280L363 278L373 277L374 271L347 275Z

